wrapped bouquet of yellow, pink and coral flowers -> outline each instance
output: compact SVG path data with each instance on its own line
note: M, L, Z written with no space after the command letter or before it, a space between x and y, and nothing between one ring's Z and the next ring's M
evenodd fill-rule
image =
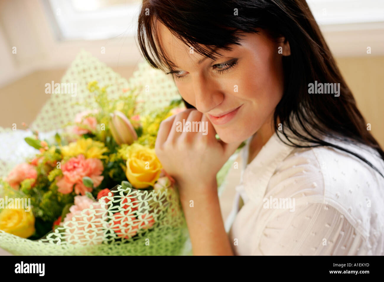
M140 99L141 78L133 79L137 86L111 96L118 92L116 84L99 86L106 77L100 70L116 74L87 53L79 58L92 62L92 68L84 68L89 73L81 70L79 83L89 99L79 95L76 103L64 107L62 96L52 97L58 108L51 109L51 99L42 110L50 117L39 116L34 124L48 131L76 106L82 110L61 122L62 129L54 130L50 140L30 129L32 136L25 142L38 153L0 178L0 247L15 255L191 254L177 187L154 152L160 122L184 110L182 100L164 99L167 105L145 110L149 103ZM68 73L78 77L75 67ZM92 69L99 69L97 81L85 82L95 77ZM166 85L164 93L177 93L163 83L164 77L149 76ZM217 175L219 193L236 155Z

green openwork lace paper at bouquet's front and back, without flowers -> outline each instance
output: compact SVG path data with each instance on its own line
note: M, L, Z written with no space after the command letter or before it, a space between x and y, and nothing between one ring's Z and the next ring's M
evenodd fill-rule
M141 91L139 92L138 100L141 101L139 109L142 111L142 114L146 114L155 109L155 107L165 107L169 105L172 99L180 97L173 80L161 71L152 69L146 63L140 63L138 70L133 73L129 80L126 80L88 52L81 51L61 81L62 83L77 83L76 97L72 97L71 94L51 94L50 99L42 107L30 128L38 130L42 134L45 132L55 132L67 122L72 121L78 112L86 109L84 106L74 106L75 102L91 107L96 106L93 97L87 90L88 82L93 80L97 80L101 86L109 85L108 95L111 98L121 95L122 90L125 88L139 87ZM20 139L20 136L17 135L17 133L20 133L18 131L20 130L12 131L10 128L3 129L0 127L0 134L6 134L7 139L4 140L6 148L4 148L3 152L8 153L8 155L0 154L0 176L6 176L17 163L23 162L26 157L33 155L31 151L23 154L23 148L26 147L21 148L14 145L13 139ZM238 151L228 159L217 174L219 195L225 187L225 177L237 154ZM127 192L122 191L121 187L118 189L120 189L119 192ZM123 239L121 242L116 241L116 234L113 233L116 230L116 226L112 226L114 229L111 229L111 226L107 225L111 221L112 211L108 210L108 208L105 211L100 208L94 208L85 211L91 214L91 216L88 216L89 220L95 219L95 214L103 212L106 213L106 215L103 214L105 220L98 225L82 220L71 221L72 224L80 229L84 228L86 224L91 224L91 228L84 228L86 231L84 233L80 232L73 240L69 240L68 234L65 233L65 228L57 228L54 232L36 241L20 238L0 230L0 247L14 255L24 256L192 255L189 234L177 192L173 189L162 191L160 194L155 193L155 191L134 189L131 189L130 193L133 193L132 191L136 191L134 193L137 193L136 196L139 196L137 201L141 204L141 209L137 211L137 220L139 221L139 216L142 216L145 211L152 208L156 210L156 212L153 210L150 213L154 218L156 217L156 224L149 229L141 230L137 236L131 239ZM167 199L169 203L165 204L164 199ZM118 196L114 196L113 201L119 201ZM170 211L172 210L173 213L171 214L173 216L170 216ZM97 228L95 224L98 226ZM146 223L144 222L144 224ZM146 242L148 242L146 239L149 239L149 245L146 245Z

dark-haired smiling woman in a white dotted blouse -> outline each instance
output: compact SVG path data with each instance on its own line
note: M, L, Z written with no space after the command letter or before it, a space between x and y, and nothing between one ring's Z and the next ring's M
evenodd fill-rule
M384 152L304 0L144 0L138 43L190 108L156 153L195 255L383 254ZM243 141L227 234L215 175Z

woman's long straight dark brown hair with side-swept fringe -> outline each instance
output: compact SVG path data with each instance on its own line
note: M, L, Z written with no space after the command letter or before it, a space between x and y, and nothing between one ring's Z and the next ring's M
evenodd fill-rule
M240 44L243 32L258 33L263 29L275 37L284 36L291 55L283 57L285 88L275 109L276 132L279 133L280 120L288 145L331 146L360 158L383 176L358 153L321 138L367 145L384 160L384 152L366 129L305 0L144 0L139 13L139 48L151 66L171 71L174 66L162 50L156 32L158 21L195 52L211 59L218 54L215 48L228 50L229 45ZM339 83L340 96L308 94L308 84L314 81ZM187 103L186 106L192 107ZM302 146L295 140L312 144Z

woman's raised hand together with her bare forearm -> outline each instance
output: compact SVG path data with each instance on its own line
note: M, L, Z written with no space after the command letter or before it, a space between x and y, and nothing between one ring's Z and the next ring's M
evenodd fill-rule
M201 122L200 131L182 130L183 119L185 124ZM215 135L205 115L187 109L164 120L156 139L156 155L178 184L194 255L233 255L221 215L216 174L240 144L223 143Z

